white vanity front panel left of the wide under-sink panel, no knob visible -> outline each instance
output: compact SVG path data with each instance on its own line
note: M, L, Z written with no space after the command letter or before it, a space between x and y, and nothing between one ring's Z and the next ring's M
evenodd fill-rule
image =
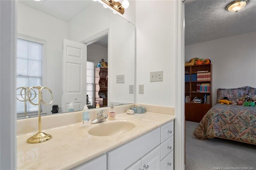
M88 162L80 164L72 170L106 170L107 169L107 156L106 154L98 156Z

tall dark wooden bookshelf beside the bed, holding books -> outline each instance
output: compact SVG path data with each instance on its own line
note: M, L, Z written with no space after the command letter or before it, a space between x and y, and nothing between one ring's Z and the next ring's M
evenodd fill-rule
M190 96L189 102L185 103L185 118L186 121L200 122L204 115L212 107L212 64L191 65L185 66L185 75L189 75L190 81L185 82L185 96ZM211 73L208 81L191 81L191 75L197 74L198 71L207 71ZM210 92L196 92L196 84L210 83ZM195 97L204 98L204 95L210 95L210 104L192 103Z

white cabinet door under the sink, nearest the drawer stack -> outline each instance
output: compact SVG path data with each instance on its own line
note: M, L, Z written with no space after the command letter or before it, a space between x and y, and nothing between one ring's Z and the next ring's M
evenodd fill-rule
M141 158L143 170L160 170L160 145Z

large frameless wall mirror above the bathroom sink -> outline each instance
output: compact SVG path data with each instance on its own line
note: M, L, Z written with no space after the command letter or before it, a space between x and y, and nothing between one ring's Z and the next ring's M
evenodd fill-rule
M16 87L47 86L53 102L42 115L134 103L135 26L99 2L20 0L17 3ZM133 86L132 86L133 85ZM48 91L43 91L47 103ZM38 107L18 89L17 114ZM31 94L32 97L34 94ZM19 100L18 100L19 99ZM36 98L34 99L36 100ZM58 111L56 111L58 105Z

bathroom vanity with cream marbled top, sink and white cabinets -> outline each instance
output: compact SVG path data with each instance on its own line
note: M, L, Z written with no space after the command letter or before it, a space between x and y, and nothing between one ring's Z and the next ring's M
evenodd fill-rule
M131 106L115 107L116 120L86 128L81 112L42 117L42 128L52 139L38 144L26 143L35 132L36 118L18 120L17 168L173 169L174 108L144 105L146 113L128 115L125 111ZM90 111L90 117L94 119L99 110Z

